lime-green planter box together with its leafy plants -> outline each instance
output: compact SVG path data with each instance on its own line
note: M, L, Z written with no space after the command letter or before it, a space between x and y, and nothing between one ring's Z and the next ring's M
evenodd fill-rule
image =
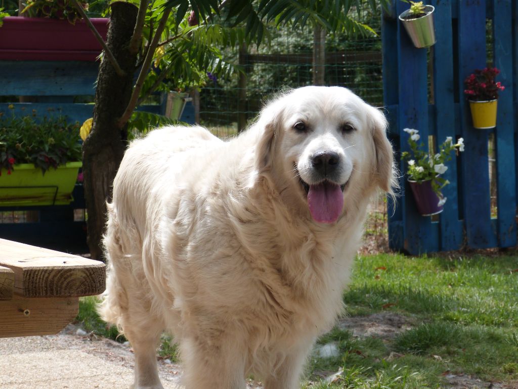
M79 124L62 115L0 112L0 204L64 205L81 167Z

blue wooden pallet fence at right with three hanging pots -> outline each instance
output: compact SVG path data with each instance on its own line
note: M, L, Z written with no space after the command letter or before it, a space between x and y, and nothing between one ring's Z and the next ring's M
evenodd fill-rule
M518 143L515 115L518 76L518 5L511 0L430 0L435 7L437 43L415 48L397 16L409 5L393 1L382 19L384 100L389 136L401 171L397 204L389 203L389 242L411 254L462 247L516 245ZM491 24L487 21L491 20ZM492 61L486 52L486 25L492 26ZM472 127L464 96L464 79L477 68L496 66L497 80L506 86L498 99L497 127ZM431 74L429 73L431 70ZM436 218L420 216L406 181L400 152L408 151L405 128L420 131L423 140L435 136L436 146L447 136L464 138L465 151L448 162L443 189L448 198ZM488 136L496 148L497 217L492 218Z

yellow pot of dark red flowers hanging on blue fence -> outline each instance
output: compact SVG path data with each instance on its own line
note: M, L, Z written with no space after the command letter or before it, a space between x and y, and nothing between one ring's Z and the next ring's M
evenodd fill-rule
M474 128L483 130L496 127L498 92L506 89L495 81L499 73L496 67L486 67L475 70L464 80L464 94L468 96Z

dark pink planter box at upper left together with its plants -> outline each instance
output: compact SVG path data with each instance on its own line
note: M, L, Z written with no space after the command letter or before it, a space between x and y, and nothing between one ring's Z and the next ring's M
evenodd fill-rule
M102 51L71 0L29 0L23 13L29 17L5 16L0 23L0 60L95 61ZM105 38L109 19L90 20Z

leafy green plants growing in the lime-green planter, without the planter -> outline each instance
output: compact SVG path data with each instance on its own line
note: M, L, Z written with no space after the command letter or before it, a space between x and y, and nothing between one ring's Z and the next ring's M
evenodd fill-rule
M51 167L81 160L79 123L67 123L66 116L16 116L0 112L0 166L13 170L13 164L32 163L45 173Z

